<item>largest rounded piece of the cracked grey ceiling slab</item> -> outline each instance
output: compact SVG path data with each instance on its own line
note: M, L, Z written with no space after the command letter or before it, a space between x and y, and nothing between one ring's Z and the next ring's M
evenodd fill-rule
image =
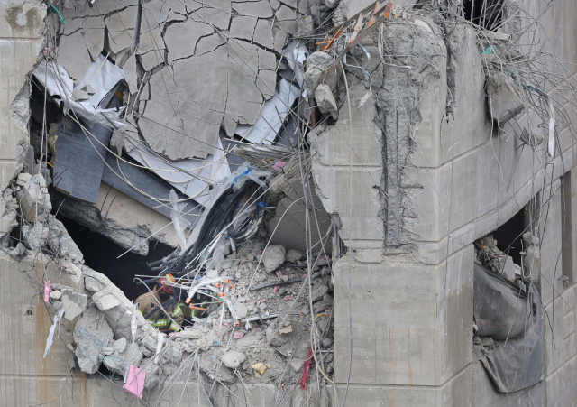
M178 60L174 69L161 69L151 77L151 100L138 125L152 151L170 160L205 159L215 153L226 88L214 84L227 75L223 63L227 54L219 47L206 55ZM209 66L213 69L206 69ZM201 104L197 95L212 97Z

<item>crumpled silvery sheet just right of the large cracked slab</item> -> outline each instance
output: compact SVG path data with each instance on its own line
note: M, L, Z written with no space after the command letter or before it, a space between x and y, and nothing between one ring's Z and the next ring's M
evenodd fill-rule
M300 89L298 87L286 79L281 79L279 91L275 92L275 96L264 104L261 116L255 125L238 125L236 134L251 143L271 144L299 95Z

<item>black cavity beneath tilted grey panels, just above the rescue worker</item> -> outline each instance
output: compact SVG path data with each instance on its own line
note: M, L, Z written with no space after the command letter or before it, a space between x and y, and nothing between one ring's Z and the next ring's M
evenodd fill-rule
M59 217L59 220L84 255L85 264L96 272L105 274L130 301L136 300L138 296L147 292L143 285L136 285L134 275L152 275L147 263L160 260L174 250L169 245L151 241L147 255L127 253L118 259L117 257L126 249L116 245L105 236L91 232L74 220L67 217ZM142 280L146 279L142 278Z

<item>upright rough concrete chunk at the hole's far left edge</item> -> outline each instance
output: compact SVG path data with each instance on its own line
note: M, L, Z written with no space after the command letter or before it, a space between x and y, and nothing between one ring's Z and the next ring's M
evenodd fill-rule
M16 199L20 202L22 215L28 222L34 222L36 217L43 220L52 210L50 196L46 188L46 180L40 174L19 174L16 183L22 187L16 192Z

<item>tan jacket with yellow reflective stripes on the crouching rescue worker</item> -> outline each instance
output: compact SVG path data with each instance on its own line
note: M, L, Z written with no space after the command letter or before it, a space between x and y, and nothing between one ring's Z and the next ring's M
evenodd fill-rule
M152 291L142 294L136 299L138 302L138 311L144 316L148 314L154 307L161 304L159 296L160 288L158 286L154 287ZM165 300L166 301L166 300ZM176 307L169 305L164 307L164 309L169 313L170 317L177 322L176 324L170 320L167 315L162 310L154 312L146 321L151 324L151 326L159 328L159 330L180 330L180 326L184 319L190 319L192 314L191 310L188 308L184 301L180 301Z

